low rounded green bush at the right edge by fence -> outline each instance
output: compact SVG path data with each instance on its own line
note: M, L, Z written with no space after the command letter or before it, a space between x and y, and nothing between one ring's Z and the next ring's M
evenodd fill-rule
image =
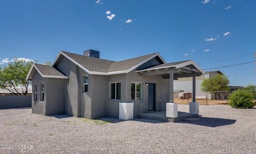
M255 106L254 97L250 91L235 91L229 96L229 100L229 104L233 108L248 109Z

